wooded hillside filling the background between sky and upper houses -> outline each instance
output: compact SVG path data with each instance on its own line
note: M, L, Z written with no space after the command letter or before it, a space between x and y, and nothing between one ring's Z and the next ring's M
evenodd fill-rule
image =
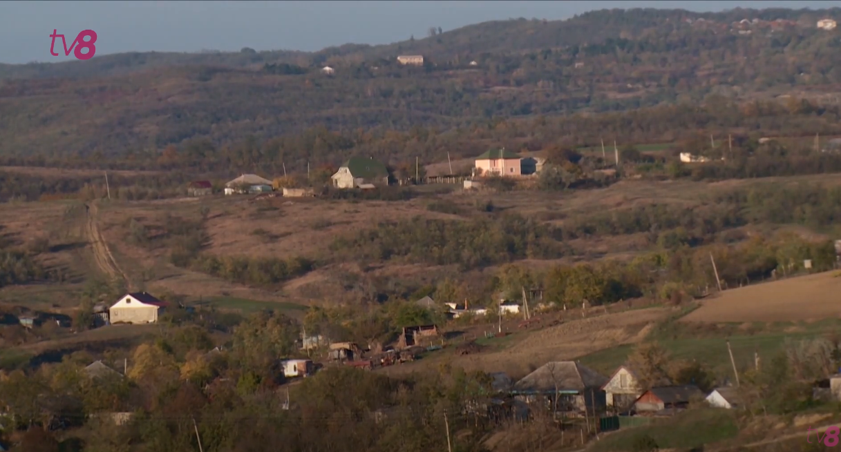
M438 149L418 147L444 134L459 137L447 139L449 150L469 154L492 144L476 140L476 134L493 129L498 118L526 120L514 127L532 128L517 132L532 138L538 135L534 124L556 124L557 134L569 134L569 126L576 125L574 137L540 135L542 146L561 138L599 139L596 134L605 129L580 129L582 122L593 121L592 113L697 106L712 97L741 108L758 98L793 95L811 102L802 113L821 115L833 111L841 91L841 42L838 30L816 28L816 19L824 17L841 18L841 9L611 10L566 21L431 29L426 39L311 54L135 53L0 66L5 77L0 81L0 155L149 161L158 160L167 145L193 143L194 148L201 141L205 150L225 149L235 155L229 161L246 165L267 156L335 164L357 151L389 160L440 158L443 143L433 146ZM743 19L746 23L739 22ZM399 54L424 55L426 64L399 66L394 61ZM334 76L320 73L325 64L336 69ZM582 114L560 120L566 126L552 119L574 113ZM715 123L729 123L717 124L719 129L756 125L667 117L669 134L628 124L631 117L600 118L623 129L612 138L637 143L668 140L681 130ZM802 118L801 124L831 129L829 119ZM295 138L301 134L315 142ZM336 139L323 142L328 135ZM371 150L373 141L385 144Z

